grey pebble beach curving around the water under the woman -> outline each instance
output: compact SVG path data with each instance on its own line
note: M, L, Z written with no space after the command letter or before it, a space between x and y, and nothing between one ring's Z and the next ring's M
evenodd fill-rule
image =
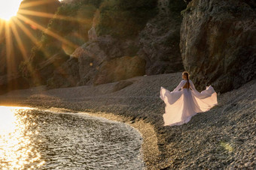
M0 101L90 112L131 124L142 133L147 169L256 169L256 80L218 94L218 106L187 124L163 127L160 87L172 91L180 81L181 73L170 73L97 86L38 87L11 91ZM128 86L120 89L123 84Z

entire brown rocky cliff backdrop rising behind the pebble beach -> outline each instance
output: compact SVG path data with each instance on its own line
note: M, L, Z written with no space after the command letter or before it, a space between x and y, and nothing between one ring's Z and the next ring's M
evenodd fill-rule
M47 28L61 40L43 34L23 75L32 66L30 82L36 77L36 83L60 88L185 69L198 90L213 85L221 93L256 78L254 0L146 2L62 4Z

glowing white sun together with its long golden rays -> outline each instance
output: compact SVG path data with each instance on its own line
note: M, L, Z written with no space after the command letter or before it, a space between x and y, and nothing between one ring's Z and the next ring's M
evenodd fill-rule
M40 5L44 5L45 7L51 7L50 5L55 2L56 0L0 0L0 57L1 62L2 60L6 62L5 72L7 73L8 77L17 75L17 73L19 72L17 65L20 64L18 63L20 61L16 61L17 57L19 57L19 60L29 61L29 52L31 52L31 49L27 49L26 44L33 43L32 46L38 46L38 44L40 43L40 36L38 36L37 33L35 34L34 30L37 30L37 32L41 31L41 33L47 34L48 36L59 40L63 46L71 46L75 49L78 48L78 45L57 34L56 31L47 28L47 25L41 25L41 19L44 18L66 19L68 21L76 21L81 23L88 22L87 19L80 19L72 16L62 15L56 16L55 13L45 13L43 12L43 10L41 11L40 9L35 10L38 8L38 6L39 8L41 8ZM60 5L61 4L58 4L58 6ZM37 19L32 19L33 16L37 18L40 17L40 19L38 19L39 21L37 21ZM24 36L25 38L29 38L28 43L23 41ZM15 49L20 49L18 56L15 55ZM38 79L37 75L33 73L33 70L30 69L30 67L28 67L27 72L30 73L33 78Z

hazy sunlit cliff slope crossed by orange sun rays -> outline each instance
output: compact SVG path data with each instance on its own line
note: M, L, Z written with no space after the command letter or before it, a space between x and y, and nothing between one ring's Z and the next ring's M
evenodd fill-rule
M91 28L93 15L100 1L96 2L74 1L58 8L41 40L33 47L29 60L20 65L23 76L31 79L35 85L45 84L53 76L54 70L88 40L87 32ZM59 57L57 60L54 59L56 55ZM43 67L52 71L45 72Z

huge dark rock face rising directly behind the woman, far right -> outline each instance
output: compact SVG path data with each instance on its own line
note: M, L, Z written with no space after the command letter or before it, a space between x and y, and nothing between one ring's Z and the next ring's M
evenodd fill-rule
M211 84L222 93L256 78L256 11L249 2L194 0L184 10L181 56L199 90Z

